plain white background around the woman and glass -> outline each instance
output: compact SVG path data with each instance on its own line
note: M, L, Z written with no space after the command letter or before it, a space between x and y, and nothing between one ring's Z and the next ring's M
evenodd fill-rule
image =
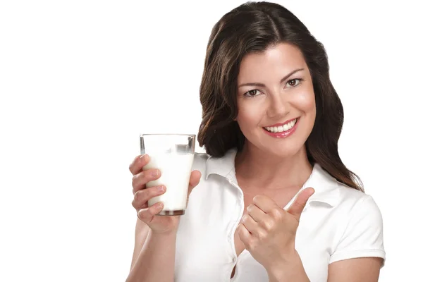
M329 54L341 158L384 216L380 281L417 281L423 22L386 2L278 1ZM209 34L242 3L0 2L0 281L125 280L138 135L197 133Z

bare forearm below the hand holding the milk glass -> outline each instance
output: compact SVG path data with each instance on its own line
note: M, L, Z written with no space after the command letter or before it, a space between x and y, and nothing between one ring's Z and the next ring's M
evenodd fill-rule
M160 235L149 231L126 282L172 282L175 273L176 233Z

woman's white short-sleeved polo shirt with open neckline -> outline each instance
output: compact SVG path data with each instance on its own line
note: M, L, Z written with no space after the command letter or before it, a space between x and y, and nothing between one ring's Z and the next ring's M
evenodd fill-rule
M195 154L192 169L201 171L202 179L180 219L176 282L269 281L250 252L236 257L234 233L244 196L235 178L235 154L235 149L221 158ZM342 259L385 259L381 213L371 196L338 183L318 164L302 189L307 187L315 192L302 212L295 249L310 281L326 282L329 264Z

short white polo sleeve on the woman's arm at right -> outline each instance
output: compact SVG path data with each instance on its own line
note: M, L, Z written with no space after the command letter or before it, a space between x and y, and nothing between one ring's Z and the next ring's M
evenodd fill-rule
M384 231L382 215L372 196L366 195L361 204L351 211L341 240L329 259L329 264L357 257L381 257L384 259Z

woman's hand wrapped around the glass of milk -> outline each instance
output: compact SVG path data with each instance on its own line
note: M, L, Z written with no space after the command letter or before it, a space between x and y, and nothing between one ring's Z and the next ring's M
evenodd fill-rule
M145 184L152 180L160 178L161 174L158 169L142 168L149 162L147 154L136 157L129 166L130 172L133 174L133 207L137 210L138 219L147 223L153 233L172 233L176 232L179 223L179 216L157 216L163 209L163 203L157 202L152 207L148 207L148 200L166 192L164 185L146 188ZM200 171L192 171L190 184L188 186L188 197L195 186L200 182ZM188 204L188 201L187 201Z

